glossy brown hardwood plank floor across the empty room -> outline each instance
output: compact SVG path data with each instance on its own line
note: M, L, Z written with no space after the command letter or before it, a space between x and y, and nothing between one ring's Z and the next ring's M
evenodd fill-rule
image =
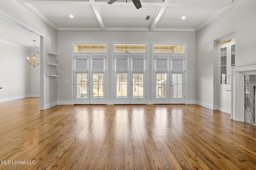
M256 169L256 127L227 113L193 104L40 111L39 100L0 103L1 170Z

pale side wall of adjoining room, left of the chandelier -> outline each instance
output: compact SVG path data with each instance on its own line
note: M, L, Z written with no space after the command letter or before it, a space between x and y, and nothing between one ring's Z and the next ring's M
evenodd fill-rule
M26 49L0 42L0 102L28 96L28 55Z

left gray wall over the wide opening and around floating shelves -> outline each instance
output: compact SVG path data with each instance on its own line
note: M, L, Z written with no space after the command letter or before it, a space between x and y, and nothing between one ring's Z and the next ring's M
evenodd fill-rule
M57 51L57 31L52 28L46 22L38 18L32 12L30 12L26 7L22 6L15 0L1 0L0 10L12 16L20 23L30 27L31 29L37 31L45 37L46 53ZM47 57L44 56L45 58ZM45 70L47 73L48 66L45 65ZM49 83L45 83L45 104L52 106L57 104L57 81L55 78L49 78L44 75L44 79L48 80ZM6 83L6 82L4 82Z

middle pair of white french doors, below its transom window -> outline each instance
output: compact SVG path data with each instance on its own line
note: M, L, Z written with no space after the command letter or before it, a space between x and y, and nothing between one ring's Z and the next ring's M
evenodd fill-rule
M114 54L114 104L146 104L146 54Z

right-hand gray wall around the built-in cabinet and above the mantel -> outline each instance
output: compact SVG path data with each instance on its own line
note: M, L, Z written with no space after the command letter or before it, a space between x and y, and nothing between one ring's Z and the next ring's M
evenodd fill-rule
M218 105L218 53L216 39L235 32L236 66L256 63L255 0L241 0L236 7L196 32L196 102L213 109ZM201 96L201 98L200 98Z

